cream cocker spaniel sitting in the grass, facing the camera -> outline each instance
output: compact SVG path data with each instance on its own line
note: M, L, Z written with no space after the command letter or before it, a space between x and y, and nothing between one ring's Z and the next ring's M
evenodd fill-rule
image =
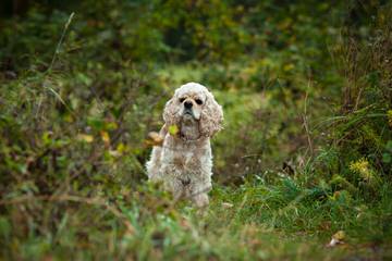
M148 178L162 183L174 200L189 198L205 207L211 189L210 138L222 129L222 108L205 86L188 83L167 102L163 121L163 142L152 148L146 164Z

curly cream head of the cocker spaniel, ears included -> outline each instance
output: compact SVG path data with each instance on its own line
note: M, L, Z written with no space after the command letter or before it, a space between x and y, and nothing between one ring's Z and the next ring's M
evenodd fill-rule
M205 86L188 83L167 102L163 120L168 127L176 125L184 138L197 139L211 137L222 128L223 111Z

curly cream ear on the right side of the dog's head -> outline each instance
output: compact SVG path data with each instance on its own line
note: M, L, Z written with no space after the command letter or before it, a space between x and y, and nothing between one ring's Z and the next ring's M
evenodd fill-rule
M207 91L206 103L200 115L200 133L204 137L212 137L213 134L221 130L223 122L223 110L213 98L213 95Z

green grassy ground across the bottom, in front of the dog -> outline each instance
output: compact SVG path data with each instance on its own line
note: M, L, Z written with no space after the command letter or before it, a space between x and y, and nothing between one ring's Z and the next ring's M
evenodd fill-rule
M378 200L365 202L327 185L305 188L291 177L268 185L260 178L238 188L217 185L205 211L186 202L173 206L146 184L112 199L30 197L12 204L41 204L44 231L13 226L2 215L1 251L3 258L34 260L387 259L392 257L391 191L384 184ZM66 206L58 210L56 229L50 228L53 206ZM30 231L26 238L16 236L21 229ZM339 231L344 244L328 247Z

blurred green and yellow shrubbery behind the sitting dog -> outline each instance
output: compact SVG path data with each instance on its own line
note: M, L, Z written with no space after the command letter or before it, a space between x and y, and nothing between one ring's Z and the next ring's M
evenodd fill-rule
M3 199L126 197L187 82L224 110L217 184L289 176L372 195L391 177L389 1L2 0L0 15ZM1 208L25 224L15 235L60 222Z

